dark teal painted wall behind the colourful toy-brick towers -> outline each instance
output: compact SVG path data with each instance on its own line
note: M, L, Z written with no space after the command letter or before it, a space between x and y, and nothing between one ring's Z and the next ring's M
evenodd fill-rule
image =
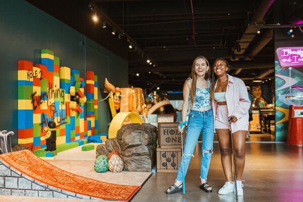
M0 38L0 130L15 132L13 145L18 138L18 60L39 63L39 50L47 48L60 58L60 66L80 70L81 77L86 70L94 71L99 86L104 87L105 77L116 86L128 85L126 60L25 1L1 2ZM103 98L100 91L98 98ZM106 102L98 103L100 133L108 131Z

